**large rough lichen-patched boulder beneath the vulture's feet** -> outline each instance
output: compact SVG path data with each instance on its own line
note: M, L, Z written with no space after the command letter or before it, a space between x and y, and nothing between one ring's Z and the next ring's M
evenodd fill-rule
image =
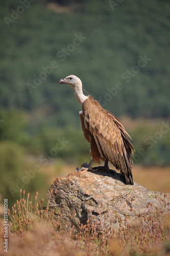
M75 225L78 229L88 220L90 225L109 230L116 229L119 220L127 223L156 209L168 210L170 194L149 191L136 182L126 185L124 177L114 170L108 173L93 169L57 178L47 200L49 210L54 211L62 227Z

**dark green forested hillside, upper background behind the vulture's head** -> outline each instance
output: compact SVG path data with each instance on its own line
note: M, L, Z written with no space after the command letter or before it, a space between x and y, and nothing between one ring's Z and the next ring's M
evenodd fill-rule
M69 11L58 13L57 7L49 9L45 1L37 0L30 2L9 28L4 17L11 18L11 9L16 11L21 4L2 2L1 105L29 113L42 110L47 122L57 126L65 127L72 118L79 125L79 103L70 88L57 84L60 78L75 74L98 100L117 82L123 84L105 105L116 116L167 118L170 4L131 0L116 5L113 11L112 2L93 0L76 5L78 1L71 1ZM75 34L86 39L72 51ZM65 58L63 49L67 49ZM151 60L137 69L139 56ZM40 74L52 61L57 61L58 67L44 79ZM34 86L31 93L28 83Z

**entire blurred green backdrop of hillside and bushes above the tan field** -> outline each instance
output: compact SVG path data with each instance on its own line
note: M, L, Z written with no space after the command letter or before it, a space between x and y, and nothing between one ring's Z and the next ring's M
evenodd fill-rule
M35 155L44 163L51 158L89 160L81 106L71 88L58 86L58 80L70 74L80 77L83 88L105 109L135 123L126 129L136 150L134 162L170 163L169 132L156 142L150 138L158 136L170 111L168 1L0 0L0 4L2 183L9 176L9 184L23 176L24 156ZM139 118L144 121L137 125ZM153 119L157 119L154 125ZM56 147L59 139L68 142L62 150ZM44 176L38 177L28 188L43 184Z

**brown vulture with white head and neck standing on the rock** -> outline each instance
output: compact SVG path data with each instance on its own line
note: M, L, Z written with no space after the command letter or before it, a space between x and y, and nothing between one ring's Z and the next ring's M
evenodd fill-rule
M92 170L93 161L100 163L100 160L105 162L104 168L109 171L109 161L125 175L127 184L133 185L131 163L134 148L126 136L129 134L124 126L92 97L83 94L82 82L77 76L67 76L58 83L66 83L74 89L75 97L82 105L80 118L83 134L91 146L92 160L88 165L83 164L77 171Z

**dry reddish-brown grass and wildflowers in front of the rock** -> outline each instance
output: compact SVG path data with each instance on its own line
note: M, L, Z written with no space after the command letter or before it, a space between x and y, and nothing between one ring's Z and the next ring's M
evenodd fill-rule
M89 223L81 225L77 233L73 227L69 230L61 227L49 214L48 208L42 210L43 199L35 200L30 194L25 197L25 190L20 190L20 199L8 209L9 248L8 255L169 255L170 253L170 218L165 214L169 207L166 194L164 206L152 215L128 222L118 219L119 228L110 229L109 234L96 230ZM167 211L166 211L167 212ZM1 249L0 255L6 255L3 248L4 221L0 222Z

